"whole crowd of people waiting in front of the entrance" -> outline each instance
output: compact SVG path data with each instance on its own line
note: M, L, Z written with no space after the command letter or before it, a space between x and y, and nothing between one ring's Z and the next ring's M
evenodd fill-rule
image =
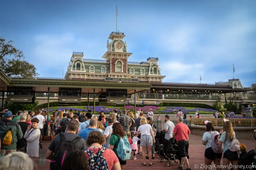
M136 156L140 156L140 149L142 166L154 165L152 159L155 159L157 128L153 123L154 114L151 109L147 115L139 110L135 116L130 110L124 109L118 114L117 109L114 109L108 117L103 112L97 117L91 110L87 113L58 110L51 117L47 117L47 112L43 109L38 109L36 113L18 111L15 116L5 109L1 114L4 119L0 122L0 153L3 157L0 159L0 170L15 170L13 161L23 169L37 169L33 160L39 157L39 146L42 145L42 135L46 128L50 129L52 135L55 134L46 151L46 159L51 160L50 170L123 170L127 160L136 160ZM190 170L190 130L187 124L183 123L186 114L179 110L176 117L177 124L174 125L169 115L164 116L164 138L165 141L175 138L181 157L181 166L178 168ZM239 158L236 152L237 143L234 144L234 141L237 139L231 122L225 119L223 130L220 132L215 131L211 122L205 122L205 125L205 165L211 165L212 161L220 165L222 153L223 165L236 165ZM244 148L246 147L243 146L241 151Z

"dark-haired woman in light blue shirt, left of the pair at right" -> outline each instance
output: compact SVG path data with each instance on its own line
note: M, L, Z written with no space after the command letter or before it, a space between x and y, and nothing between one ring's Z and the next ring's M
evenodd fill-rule
M203 145L205 145L205 151L204 151L204 165L209 166L212 164L212 161L216 165L220 165L220 160L222 157L222 150L219 151L220 153L215 153L215 148L212 147L212 145L216 144L212 139L214 139L215 136L219 135L219 132L215 131L214 125L212 122L205 122L206 125L206 132L204 132L203 135ZM216 141L217 142L217 141ZM214 151L213 151L214 149ZM221 169L221 168L217 168Z

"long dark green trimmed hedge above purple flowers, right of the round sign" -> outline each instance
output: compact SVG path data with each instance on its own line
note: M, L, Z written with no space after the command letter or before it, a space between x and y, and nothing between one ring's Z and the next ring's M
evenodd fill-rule
M122 104L117 104L117 107L124 106ZM127 104L125 106L134 106L134 104ZM210 105L201 104L201 103L169 103L169 102L163 102L158 105L140 105L136 104L136 107L143 107L143 106L156 106L156 107L196 107L196 108L206 108L206 109L214 109L215 107L212 107Z

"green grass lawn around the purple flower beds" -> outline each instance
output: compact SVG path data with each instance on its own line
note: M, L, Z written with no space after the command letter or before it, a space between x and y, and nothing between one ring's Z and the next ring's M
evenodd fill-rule
M84 106L55 106L55 107L49 107L50 109L54 109L54 110L57 110L59 107L71 107L71 108L77 108L77 109L85 109ZM117 108L119 110L123 110L123 107L115 107L115 106L107 106L107 108ZM164 108L166 107L158 107L159 109L157 110L157 114L160 114L160 115L164 115L166 113L160 113L159 111L163 111ZM184 107L186 110L192 110L192 109L196 109L196 107ZM95 112L98 114L98 112ZM134 112L133 112L134 113ZM177 112L173 112L171 114L176 114ZM188 114L195 114L196 112L189 112ZM199 110L199 114L210 114L210 115L213 115L214 112L205 112L205 111L201 111ZM50 112L50 114L52 114L52 112ZM109 113L106 113L106 114L109 114Z

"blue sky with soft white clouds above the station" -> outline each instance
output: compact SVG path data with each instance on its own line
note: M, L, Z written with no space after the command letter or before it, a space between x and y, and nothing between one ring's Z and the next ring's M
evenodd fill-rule
M62 77L73 51L101 59L108 36L125 33L128 61L159 58L164 82L256 83L255 0L2 1L0 36L39 76Z

